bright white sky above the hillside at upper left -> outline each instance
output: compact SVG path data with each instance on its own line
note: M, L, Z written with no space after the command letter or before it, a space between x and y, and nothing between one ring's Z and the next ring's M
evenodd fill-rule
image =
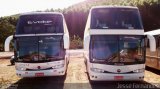
M24 12L63 9L85 0L0 0L0 17Z

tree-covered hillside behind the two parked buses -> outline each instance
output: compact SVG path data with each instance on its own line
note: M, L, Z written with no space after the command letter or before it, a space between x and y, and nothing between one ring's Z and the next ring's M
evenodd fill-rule
M160 28L160 0L86 0L63 10L46 9L45 11L64 14L71 36L71 48L81 48L89 10L92 6L99 5L137 6L145 31ZM0 18L0 51L3 50L5 38L13 34L18 17L19 14Z

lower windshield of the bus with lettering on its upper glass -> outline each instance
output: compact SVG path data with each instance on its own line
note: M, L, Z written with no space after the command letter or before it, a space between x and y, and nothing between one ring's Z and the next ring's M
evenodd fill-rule
M64 59L63 36L17 37L17 61L49 62Z

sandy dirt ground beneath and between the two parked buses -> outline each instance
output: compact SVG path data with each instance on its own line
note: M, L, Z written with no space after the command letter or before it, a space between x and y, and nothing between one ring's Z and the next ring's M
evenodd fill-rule
M0 59L0 89L117 89L160 88L160 75L145 71L143 82L95 82L90 83L86 73L83 55L70 57L66 76L43 78L19 78L9 59ZM120 86L125 87L120 87ZM141 85L141 86L140 86ZM144 89L144 88L143 88Z

